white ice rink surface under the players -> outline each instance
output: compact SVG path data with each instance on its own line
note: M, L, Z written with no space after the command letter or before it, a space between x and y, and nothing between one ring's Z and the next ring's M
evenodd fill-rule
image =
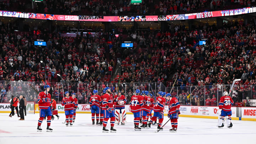
M102 133L101 126L92 126L91 114L76 114L73 127L66 127L65 114L60 119L55 117L51 128L46 132L46 120L43 121L42 132L37 132L39 114L27 114L25 121L18 121L17 114L8 117L9 113L0 113L0 144L256 144L256 122L232 121L233 128L216 127L217 119L179 117L176 133L169 132L170 121L164 131L156 133L156 126L151 129L134 130L133 115L127 114L124 126L116 125L116 133ZM163 124L168 120L164 117ZM95 122L96 123L96 122ZM110 130L110 120L107 129Z

